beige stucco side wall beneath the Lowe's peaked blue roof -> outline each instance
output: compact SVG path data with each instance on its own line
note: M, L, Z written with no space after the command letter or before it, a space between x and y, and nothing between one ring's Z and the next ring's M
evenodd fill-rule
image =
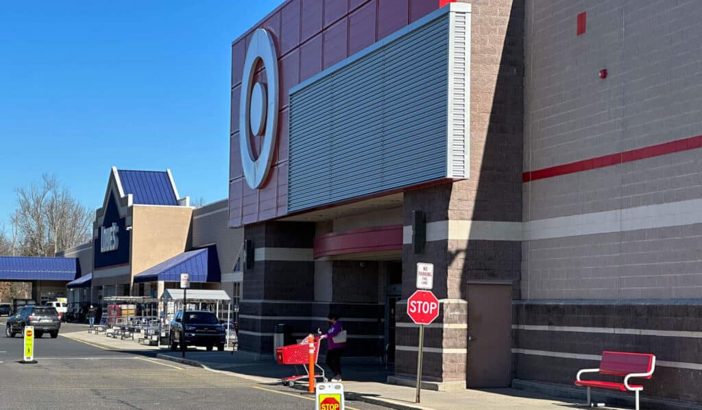
M192 208L133 206L131 275L185 252L190 244Z

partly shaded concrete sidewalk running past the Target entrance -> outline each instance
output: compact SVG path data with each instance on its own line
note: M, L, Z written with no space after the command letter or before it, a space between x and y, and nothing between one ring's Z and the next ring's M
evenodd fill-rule
M160 352L157 357L192 366L202 366L218 372L232 373L258 383L279 383L280 378L292 376L294 366L279 365L272 360L257 361L245 352L187 352L185 359L180 352ZM300 371L303 369L300 366ZM512 388L489 390L459 390L436 392L422 390L421 404L415 404L415 389L388 385L388 372L380 364L344 364L344 389L348 399L368 402L391 409L564 409L573 404L545 395L531 394ZM307 390L307 383L295 386ZM583 392L583 402L584 402Z

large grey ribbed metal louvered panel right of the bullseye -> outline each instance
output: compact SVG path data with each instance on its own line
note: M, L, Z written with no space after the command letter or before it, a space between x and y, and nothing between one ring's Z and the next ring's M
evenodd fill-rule
M449 175L460 151L447 135L454 14L432 13L291 90L289 211Z

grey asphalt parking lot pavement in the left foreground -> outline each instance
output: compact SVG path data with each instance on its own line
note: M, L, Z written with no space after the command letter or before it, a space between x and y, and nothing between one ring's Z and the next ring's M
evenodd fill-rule
M4 324L0 325L3 326ZM69 334L69 333L68 333ZM305 409L310 397L234 376L110 350L70 338L36 340L37 364L21 364L22 338L0 337L0 409ZM378 410L366 403L347 409Z

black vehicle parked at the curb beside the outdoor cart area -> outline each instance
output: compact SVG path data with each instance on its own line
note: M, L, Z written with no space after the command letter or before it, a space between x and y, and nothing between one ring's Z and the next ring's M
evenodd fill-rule
M217 346L217 350L224 350L227 338L225 329L213 312L187 310L185 320L183 319L183 311L178 310L168 335L171 350L178 350L181 343L185 343L186 346L204 346L207 350Z

